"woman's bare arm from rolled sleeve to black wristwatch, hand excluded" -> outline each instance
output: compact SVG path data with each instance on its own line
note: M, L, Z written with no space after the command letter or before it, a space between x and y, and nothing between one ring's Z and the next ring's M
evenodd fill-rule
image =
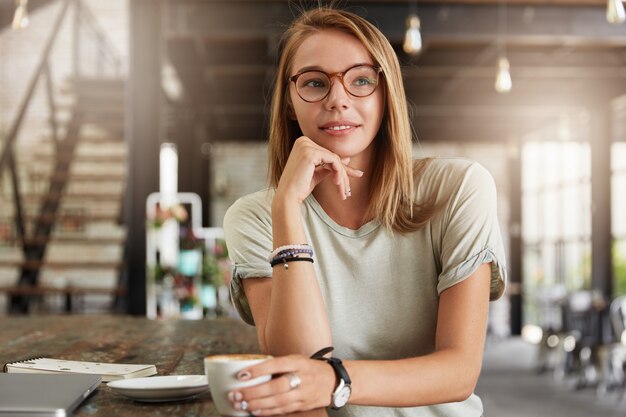
M344 361L352 404L409 407L463 401L478 381L489 310L490 264L445 290L435 352L397 361Z

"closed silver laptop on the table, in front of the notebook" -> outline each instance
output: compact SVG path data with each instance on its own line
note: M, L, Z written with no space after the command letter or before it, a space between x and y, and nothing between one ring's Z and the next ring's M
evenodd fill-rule
M100 380L98 375L0 373L0 416L69 417Z

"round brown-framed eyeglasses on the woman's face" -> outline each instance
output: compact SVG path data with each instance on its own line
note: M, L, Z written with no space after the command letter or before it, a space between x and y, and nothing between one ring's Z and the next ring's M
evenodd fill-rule
M356 65L343 72L302 71L289 78L300 98L308 103L324 100L330 93L332 79L339 78L344 90L354 97L367 97L376 91L382 70L371 65Z

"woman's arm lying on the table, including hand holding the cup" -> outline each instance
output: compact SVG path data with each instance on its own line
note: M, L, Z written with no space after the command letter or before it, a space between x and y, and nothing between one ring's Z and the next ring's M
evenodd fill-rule
M482 364L489 307L490 264L483 264L440 297L435 352L393 361L344 361L352 379L351 404L387 407L463 401L472 392ZM288 390L287 378L242 390L255 415L284 414L302 407L325 407L330 392L318 394L318 375L330 370L321 361L288 356L250 368L251 377L297 373L302 383ZM318 403L312 404L310 398ZM303 410L306 408L299 408Z

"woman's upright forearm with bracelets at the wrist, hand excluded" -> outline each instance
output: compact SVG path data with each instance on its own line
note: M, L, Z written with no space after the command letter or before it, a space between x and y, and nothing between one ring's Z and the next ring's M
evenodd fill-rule
M300 204L276 199L272 204L274 247L303 244ZM272 272L270 307L265 327L266 346L274 355L311 355L332 344L326 307L313 264L292 262Z

